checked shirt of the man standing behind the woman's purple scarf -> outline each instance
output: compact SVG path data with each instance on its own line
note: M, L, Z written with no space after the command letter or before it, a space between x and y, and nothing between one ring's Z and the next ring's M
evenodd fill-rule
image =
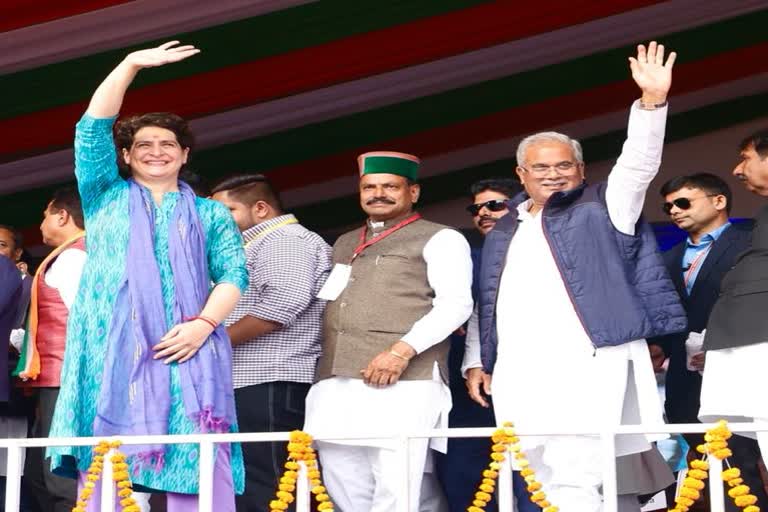
M331 248L290 214L253 226L243 239L248 288L225 324L251 315L282 327L233 347L234 386L311 383L325 309L316 297L331 269Z

